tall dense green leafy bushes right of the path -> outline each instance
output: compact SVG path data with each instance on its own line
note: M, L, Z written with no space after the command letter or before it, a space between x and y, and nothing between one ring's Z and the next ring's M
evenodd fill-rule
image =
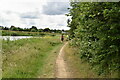
M72 2L71 6L72 45L79 47L81 58L99 75L119 72L120 2Z

